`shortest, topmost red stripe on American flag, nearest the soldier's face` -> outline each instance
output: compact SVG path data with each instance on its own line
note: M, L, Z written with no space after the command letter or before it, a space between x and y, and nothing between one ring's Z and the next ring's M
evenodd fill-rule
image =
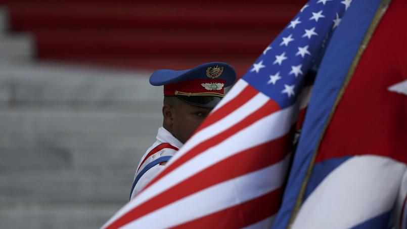
M254 87L252 87L251 85L247 85L234 99L210 114L210 116L205 119L205 121L198 127L195 132L198 132L199 130L224 118L225 116L242 106L242 104L245 104L247 101L252 99L257 94L258 91Z

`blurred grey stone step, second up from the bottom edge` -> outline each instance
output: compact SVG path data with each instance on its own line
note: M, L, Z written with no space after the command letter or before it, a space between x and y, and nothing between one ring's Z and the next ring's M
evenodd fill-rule
M31 170L0 174L0 206L16 203L124 203L134 169Z

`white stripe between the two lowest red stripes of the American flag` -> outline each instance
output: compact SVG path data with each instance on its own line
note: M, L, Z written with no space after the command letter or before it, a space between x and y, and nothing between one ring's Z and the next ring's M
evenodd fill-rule
M287 155L279 163L204 189L123 228L171 227L262 196L282 186L289 159L290 155ZM165 215L165 220L157 220L162 215Z

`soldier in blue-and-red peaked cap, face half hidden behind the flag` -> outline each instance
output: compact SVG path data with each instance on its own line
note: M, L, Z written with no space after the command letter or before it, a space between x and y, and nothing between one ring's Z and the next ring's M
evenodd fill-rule
M130 199L164 168L224 97L224 87L232 85L235 80L233 67L221 62L181 71L162 69L150 76L152 85L164 85L163 125L158 129L157 141L137 167Z

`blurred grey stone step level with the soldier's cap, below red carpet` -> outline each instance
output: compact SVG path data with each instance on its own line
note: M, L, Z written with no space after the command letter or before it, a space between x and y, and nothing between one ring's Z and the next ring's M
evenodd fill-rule
M116 103L162 101L162 87L151 86L151 72L56 63L2 64L0 102Z

